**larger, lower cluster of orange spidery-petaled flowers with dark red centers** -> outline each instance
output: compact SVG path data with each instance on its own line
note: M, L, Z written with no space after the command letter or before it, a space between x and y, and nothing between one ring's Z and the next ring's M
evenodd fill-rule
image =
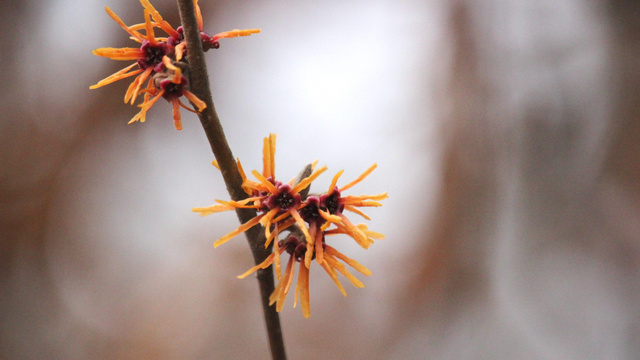
M264 139L262 173L255 170L251 172L256 180L247 178L238 160L238 170L243 179L242 187L248 196L246 199L240 201L215 200L216 204L209 207L193 208L193 211L205 216L237 208L256 209L258 212L256 217L218 239L214 243L214 247L229 241L257 224L261 224L265 231L264 246L268 247L273 243L273 253L261 264L238 277L245 278L259 269L266 269L274 265L279 283L271 294L270 302L272 305L276 303L276 310L280 311L293 282L294 265L299 262L294 306L300 296L302 313L304 317L309 317L311 315L309 269L313 260L327 272L343 295L346 296L346 292L338 279L338 273L343 274L354 286L364 287L362 282L348 271L345 264L366 276L371 275L371 271L329 246L325 237L346 234L365 249L372 245L374 240L383 239L384 235L370 231L365 224L354 225L345 215L345 211L370 220L359 208L381 206L382 204L378 201L386 199L387 193L359 196L343 195L346 190L371 174L376 168L376 164L369 167L357 179L342 187L338 187L337 183L343 171L338 172L333 177L329 189L322 194L308 195L311 183L327 170L326 166L315 169L316 162L309 165L297 178L282 183L276 180L275 176L275 141L274 134ZM215 161L214 165L217 167ZM285 231L288 235L280 240L280 234ZM284 274L282 274L280 256L285 252L289 254L289 260Z

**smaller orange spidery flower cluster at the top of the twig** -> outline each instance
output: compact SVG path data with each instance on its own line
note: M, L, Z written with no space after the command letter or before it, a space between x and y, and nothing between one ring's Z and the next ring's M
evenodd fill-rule
M133 41L140 45L139 47L93 50L94 55L113 60L134 61L134 63L92 85L90 89L137 75L124 95L124 102L133 105L139 95L144 94L144 96L142 103L138 105L141 108L140 112L129 121L129 124L136 121L144 122L149 109L162 97L172 104L175 128L181 130L180 107L196 112L180 101L182 96L187 98L198 112L206 108L206 104L188 90L189 82L185 72L189 67L183 30L182 27L174 29L148 0L140 0L140 3L144 7L144 23L131 26L127 26L118 15L108 7L106 8L109 16L130 35ZM218 40L222 38L249 36L260 32L259 29L248 29L231 30L213 36L208 35L202 30L202 14L198 0L194 0L194 6L200 38L205 51L219 48ZM167 36L156 37L156 29L161 29Z

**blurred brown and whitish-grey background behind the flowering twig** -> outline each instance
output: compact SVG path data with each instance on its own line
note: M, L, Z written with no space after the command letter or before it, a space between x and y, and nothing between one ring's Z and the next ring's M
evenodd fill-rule
M289 358L640 358L640 2L200 3L210 34L262 29L208 53L245 168L273 132L280 178L377 162L349 193L389 192L385 240L330 239L365 288L287 299ZM89 91L127 64L90 50L133 44L105 6L143 21L2 2L0 359L266 359L246 241L212 246L235 215L191 212L227 198L199 121Z

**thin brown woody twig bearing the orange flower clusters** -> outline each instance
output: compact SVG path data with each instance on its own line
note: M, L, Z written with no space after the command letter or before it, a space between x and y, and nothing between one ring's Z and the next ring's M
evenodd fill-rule
M220 119L216 113L209 87L209 75L202 49L200 31L198 29L193 0L177 0L180 10L180 20L184 29L187 42L187 56L189 61L189 88L200 100L207 104L198 116L207 135L211 150L213 151L220 172L227 185L227 191L233 200L241 200L247 197L242 190L242 177L238 172L235 159L224 135ZM256 216L254 209L236 209L238 219L241 223L249 221ZM271 254L271 249L265 249L264 231L261 226L254 226L246 233L249 247L253 253L254 262L262 263ZM258 271L258 282L260 285L260 296L262 298L262 309L269 335L271 356L274 360L286 359L282 329L280 328L280 317L274 306L269 306L269 296L274 289L273 270L270 267Z

